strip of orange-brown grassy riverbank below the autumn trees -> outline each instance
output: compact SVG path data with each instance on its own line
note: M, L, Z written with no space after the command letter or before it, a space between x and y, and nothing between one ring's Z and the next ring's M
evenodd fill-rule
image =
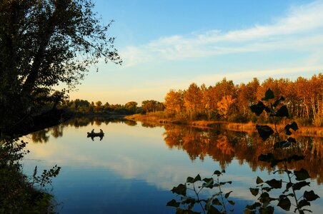
M126 119L132 121L141 121L151 124L185 124L188 126L194 126L199 128L224 128L230 131L245 131L256 132L256 123L230 123L226 121L187 121L174 118L161 118L159 116L147 116L143 114L134 114L131 116L125 116ZM274 126L273 124L262 124ZM279 130L284 130L285 125L277 125ZM299 126L299 130L295 133L296 136L311 136L311 137L323 137L323 127L307 127Z

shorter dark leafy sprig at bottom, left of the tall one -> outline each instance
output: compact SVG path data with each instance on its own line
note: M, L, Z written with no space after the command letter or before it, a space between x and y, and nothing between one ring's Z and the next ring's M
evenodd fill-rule
M229 200L228 193L222 192L222 187L226 184L231 184L232 181L220 182L219 176L225 173L224 170L220 172L215 170L211 178L201 178L197 175L195 178L187 177L187 182L179 184L172 189L172 193L180 195L179 201L172 199L167 203L167 206L176 208L176 213L200 213L194 210L202 210L203 213L227 213L228 205L234 205L233 200ZM216 176L216 178L214 178ZM208 198L202 197L202 190L205 189L217 189L216 193L212 194ZM191 193L189 193L191 192ZM199 208L195 208L197 205ZM229 210L233 212L234 210Z

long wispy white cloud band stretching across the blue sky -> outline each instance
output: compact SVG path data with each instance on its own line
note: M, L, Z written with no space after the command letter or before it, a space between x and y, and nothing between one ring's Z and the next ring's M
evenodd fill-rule
M199 31L189 35L161 37L121 51L125 66L150 61L203 58L223 54L269 50L312 51L323 46L323 1L293 6L271 24L222 32Z

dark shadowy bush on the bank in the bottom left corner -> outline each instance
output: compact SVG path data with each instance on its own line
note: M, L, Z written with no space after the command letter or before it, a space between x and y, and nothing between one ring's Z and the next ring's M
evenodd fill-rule
M26 142L3 136L0 143L0 213L49 213L54 210L53 196L44 191L51 177L59 173L59 167L47 171L41 176L34 173L34 179L22 173L19 163L29 151L24 151ZM35 179L36 178L36 179ZM32 180L32 181L31 181ZM34 184L41 187L36 190Z

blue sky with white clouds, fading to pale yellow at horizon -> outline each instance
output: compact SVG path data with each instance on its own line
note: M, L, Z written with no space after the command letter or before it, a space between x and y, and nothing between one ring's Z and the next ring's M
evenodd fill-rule
M70 99L164 101L170 89L323 72L323 0L94 0L123 63L100 62Z

